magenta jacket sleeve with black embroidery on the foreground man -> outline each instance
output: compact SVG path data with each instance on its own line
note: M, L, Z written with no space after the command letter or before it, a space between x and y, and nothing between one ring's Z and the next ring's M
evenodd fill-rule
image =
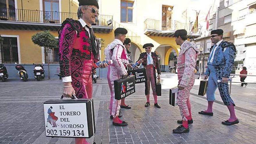
M71 76L70 62L76 31L70 24L65 24L59 33L59 54L60 54L60 71L62 77Z

